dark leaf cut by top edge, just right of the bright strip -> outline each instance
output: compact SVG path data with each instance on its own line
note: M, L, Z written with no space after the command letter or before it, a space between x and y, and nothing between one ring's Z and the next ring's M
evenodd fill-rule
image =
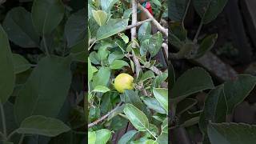
M182 22L187 3L188 0L170 0L169 18L176 22Z

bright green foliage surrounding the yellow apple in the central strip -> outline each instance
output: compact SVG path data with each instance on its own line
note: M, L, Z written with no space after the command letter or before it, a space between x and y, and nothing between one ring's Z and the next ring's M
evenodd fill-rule
M130 1L126 2L130 5ZM158 0L152 3L162 6ZM158 65L154 56L162 48L162 33L151 34L151 23L145 22L138 27L138 39L131 40L130 30L126 32L131 9L126 3L116 0L90 1L88 7L89 123L97 122L97 119L114 110L106 120L90 127L89 143L97 143L95 133L98 130L111 130L113 136L128 122L135 129L123 134L118 143L167 143L168 90L161 86L167 79L167 71L157 75L149 70L151 66ZM142 66L138 76L135 76L132 54ZM134 79L134 90L118 93L114 88L114 78L122 73L134 77L130 78ZM103 142L110 140L110 137L102 139Z

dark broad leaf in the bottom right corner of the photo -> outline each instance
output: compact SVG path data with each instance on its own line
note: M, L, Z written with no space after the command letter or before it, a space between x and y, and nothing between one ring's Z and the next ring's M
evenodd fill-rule
M256 126L242 123L210 123L208 136L211 144L254 144Z

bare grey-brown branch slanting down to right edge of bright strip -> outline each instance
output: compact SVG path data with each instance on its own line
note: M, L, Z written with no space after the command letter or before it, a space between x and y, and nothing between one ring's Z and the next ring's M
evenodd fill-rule
M138 3L138 8L142 10L146 14L146 16L150 19L152 19L152 22L154 23L155 26L157 26L158 30L161 31L163 34L168 37L168 29L165 27L161 26L160 23L153 17L153 15L150 14L149 10L146 10L141 4Z

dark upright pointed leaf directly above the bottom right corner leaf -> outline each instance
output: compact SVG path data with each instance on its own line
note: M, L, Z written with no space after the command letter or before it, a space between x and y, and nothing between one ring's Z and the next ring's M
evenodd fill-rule
M224 86L218 86L208 94L199 120L199 127L203 134L207 133L207 126L211 122L226 122L226 98Z

